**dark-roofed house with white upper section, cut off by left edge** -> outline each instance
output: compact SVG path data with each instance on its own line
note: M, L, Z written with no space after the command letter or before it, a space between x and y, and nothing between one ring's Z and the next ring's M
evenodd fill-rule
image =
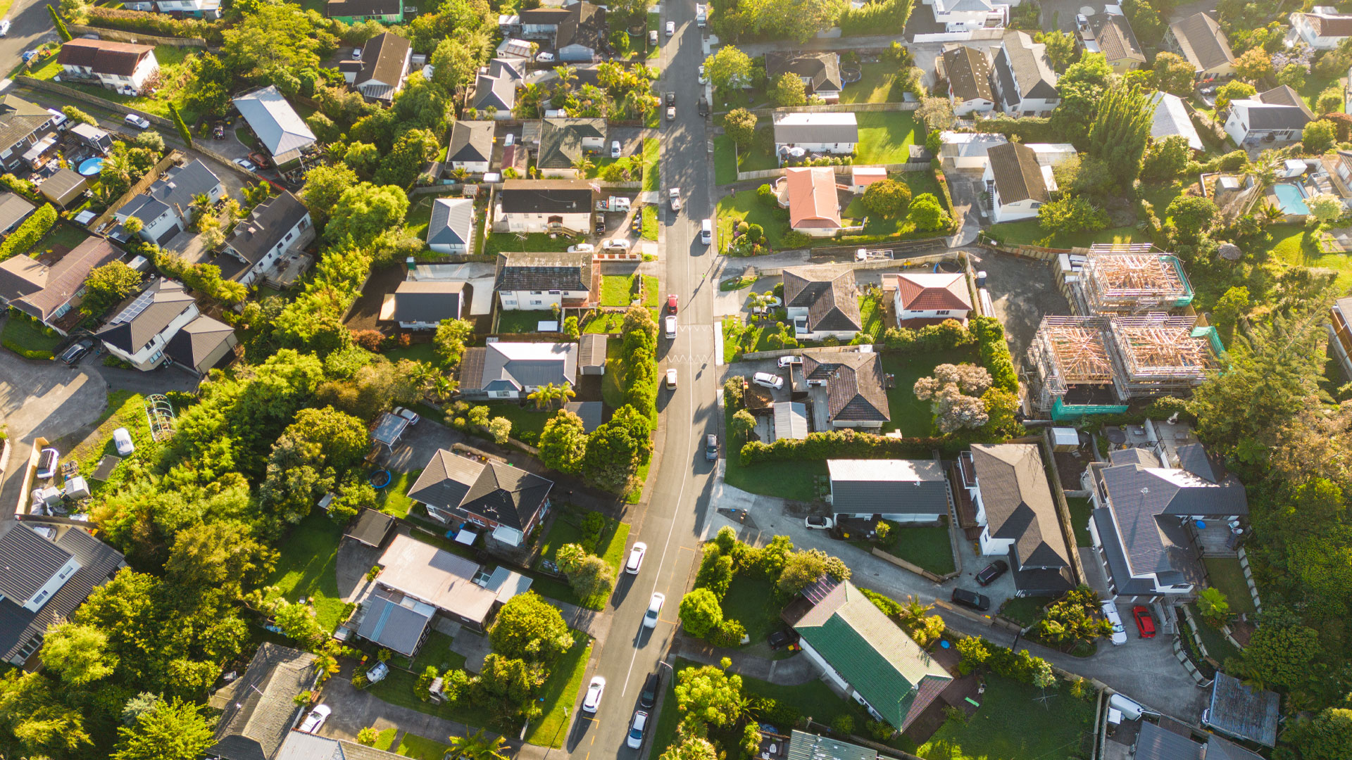
M5 521L0 527L0 567L5 568L0 573L0 660L35 669L34 655L47 627L69 619L126 565L116 549L84 527Z

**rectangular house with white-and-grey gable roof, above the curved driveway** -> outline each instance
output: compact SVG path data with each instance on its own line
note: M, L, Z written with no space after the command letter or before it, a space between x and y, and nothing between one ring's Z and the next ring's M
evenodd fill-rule
M826 460L831 513L860 519L938 522L948 475L937 460Z

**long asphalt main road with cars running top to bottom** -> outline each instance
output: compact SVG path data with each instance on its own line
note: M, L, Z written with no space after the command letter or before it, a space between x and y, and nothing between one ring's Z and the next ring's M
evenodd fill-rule
M665 203L668 188L679 187L683 208L680 214L662 208L662 292L679 298L680 311L676 338L658 335L657 360L662 377L667 369L676 369L677 388L664 388L658 395L657 475L645 494L646 507L630 519L630 541L645 542L648 554L638 576L621 577L611 600L610 634L596 656L595 671L587 673L588 682L595 675L606 679L600 710L596 715L575 714L564 742L564 749L577 760L591 760L594 755L629 760L652 751L657 710L650 711L639 749L626 746L625 738L644 679L660 667L671 645L680 598L699 556L699 530L713 508L715 467L704 460L703 441L708 433L721 434L721 426L714 365L715 249L699 242L700 219L713 216L708 123L696 110L703 89L698 84L703 30L695 26L694 0L668 0L662 8L664 30L667 22L675 22L676 34L662 38L660 88L676 93L676 119L665 120L664 108L661 197ZM657 627L646 630L641 627L642 618L654 591L665 594L667 603ZM668 667L661 671L665 687L672 672Z

